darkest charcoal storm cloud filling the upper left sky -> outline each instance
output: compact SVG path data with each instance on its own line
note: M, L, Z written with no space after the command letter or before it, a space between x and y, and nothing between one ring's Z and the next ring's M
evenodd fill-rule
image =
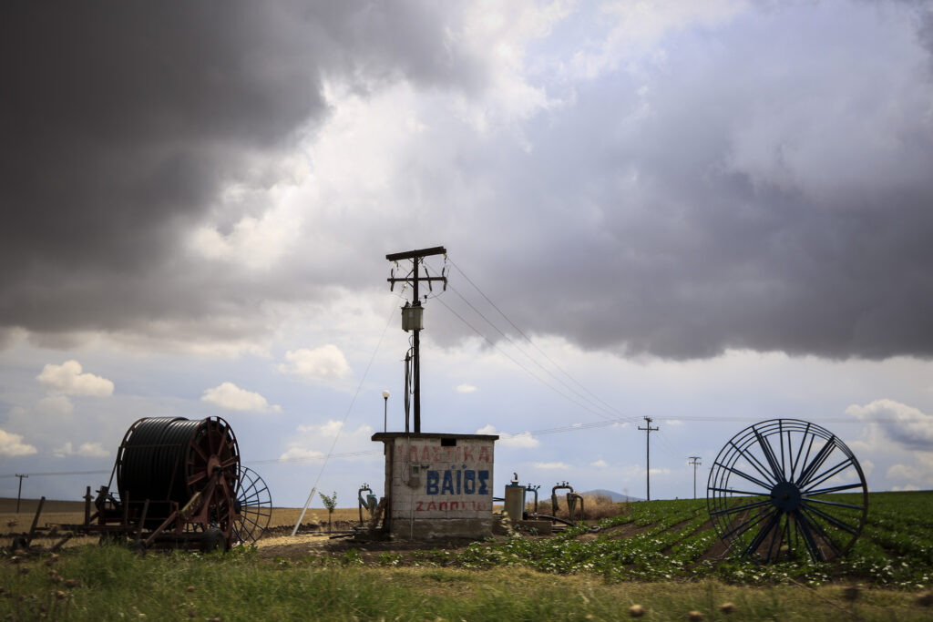
M437 12L411 3L4 3L0 325L222 311L229 275L181 248L220 187L277 180L327 114L328 75L361 90L448 81L442 36Z

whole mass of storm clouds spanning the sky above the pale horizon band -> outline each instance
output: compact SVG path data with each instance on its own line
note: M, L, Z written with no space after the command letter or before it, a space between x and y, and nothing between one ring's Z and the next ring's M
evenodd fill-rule
M250 339L445 244L587 349L933 354L926 8L516 7L5 7L0 325Z

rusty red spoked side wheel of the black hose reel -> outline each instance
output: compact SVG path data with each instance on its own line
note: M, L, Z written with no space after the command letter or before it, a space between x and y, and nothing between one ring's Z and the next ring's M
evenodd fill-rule
M240 453L230 424L220 417L203 420L185 453L185 480L201 493L200 508L187 520L202 532L216 528L230 546L236 513L236 487L240 477ZM181 521L178 530L184 529Z

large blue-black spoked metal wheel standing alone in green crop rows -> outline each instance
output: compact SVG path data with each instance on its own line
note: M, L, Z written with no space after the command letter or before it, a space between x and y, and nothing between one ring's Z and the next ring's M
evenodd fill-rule
M869 502L865 475L842 440L814 423L773 419L719 451L706 505L735 554L826 561L855 544Z

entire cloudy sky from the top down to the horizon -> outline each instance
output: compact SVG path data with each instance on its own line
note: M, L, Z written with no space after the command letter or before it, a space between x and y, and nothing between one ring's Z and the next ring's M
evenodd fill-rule
M384 256L441 244L424 428L497 488L644 496L645 416L652 496L774 417L933 488L933 5L16 2L0 69L0 495L163 415L382 493Z

